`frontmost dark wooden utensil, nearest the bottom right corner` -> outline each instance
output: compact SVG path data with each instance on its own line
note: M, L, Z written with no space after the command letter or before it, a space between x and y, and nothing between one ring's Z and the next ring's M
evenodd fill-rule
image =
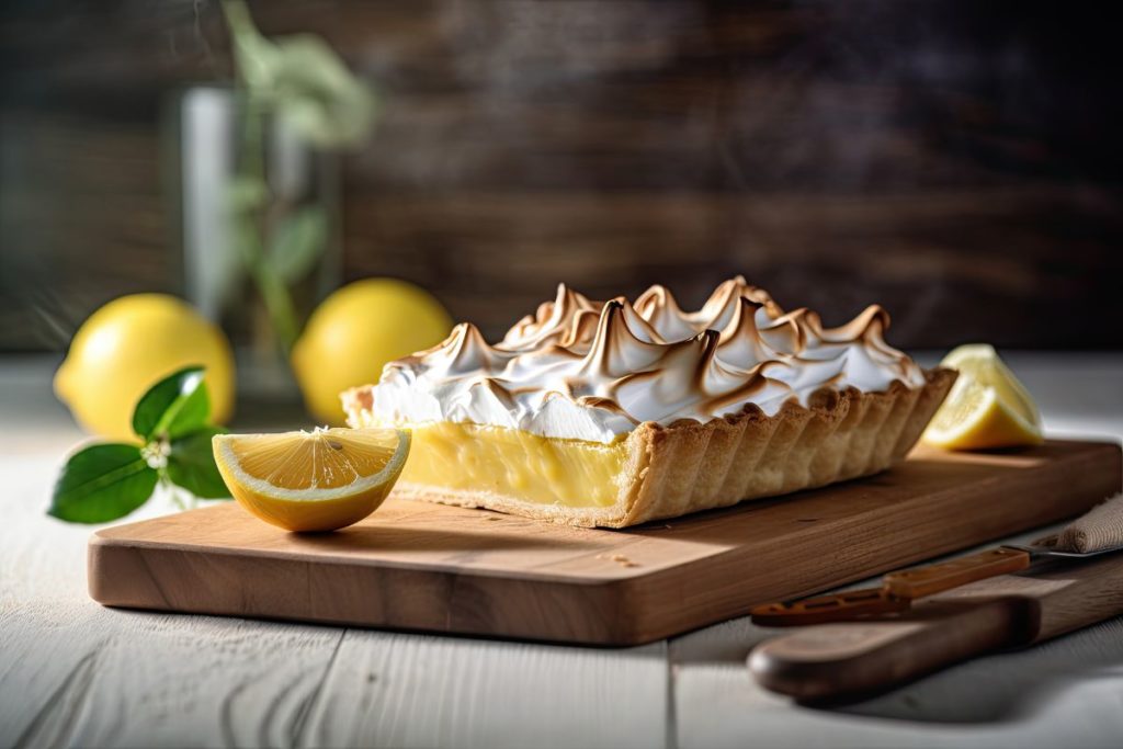
M802 627L754 649L749 670L801 702L848 701L1123 614L1123 554L1051 558L924 599L897 616Z

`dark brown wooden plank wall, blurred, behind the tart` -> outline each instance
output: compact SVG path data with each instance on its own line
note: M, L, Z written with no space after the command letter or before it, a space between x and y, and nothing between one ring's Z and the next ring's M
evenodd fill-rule
M377 80L346 274L495 335L565 280L745 273L917 347L1123 346L1117 30L1017 0L255 2ZM180 287L161 112L229 76L213 0L0 11L0 348Z

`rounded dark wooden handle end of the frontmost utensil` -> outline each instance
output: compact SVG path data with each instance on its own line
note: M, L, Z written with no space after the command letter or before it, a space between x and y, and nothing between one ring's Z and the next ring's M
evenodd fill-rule
M749 670L804 702L844 701L1024 640L1016 597L931 603L905 619L821 624L758 646Z

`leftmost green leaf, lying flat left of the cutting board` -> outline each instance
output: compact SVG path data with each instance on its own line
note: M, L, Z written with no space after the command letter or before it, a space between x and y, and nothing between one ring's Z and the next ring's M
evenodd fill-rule
M66 462L47 514L100 523L129 514L148 501L158 474L137 445L94 445Z

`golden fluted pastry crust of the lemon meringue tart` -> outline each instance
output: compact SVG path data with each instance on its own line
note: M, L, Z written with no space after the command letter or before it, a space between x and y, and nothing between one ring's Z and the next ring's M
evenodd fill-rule
M399 483L394 496L485 508L582 527L626 528L824 486L885 471L903 458L943 402L953 369L924 373L925 384L894 382L880 393L821 390L810 407L786 403L765 415L749 407L707 422L646 422L627 438L628 462L617 502L566 508L492 492ZM369 389L345 393L353 426L369 422Z

